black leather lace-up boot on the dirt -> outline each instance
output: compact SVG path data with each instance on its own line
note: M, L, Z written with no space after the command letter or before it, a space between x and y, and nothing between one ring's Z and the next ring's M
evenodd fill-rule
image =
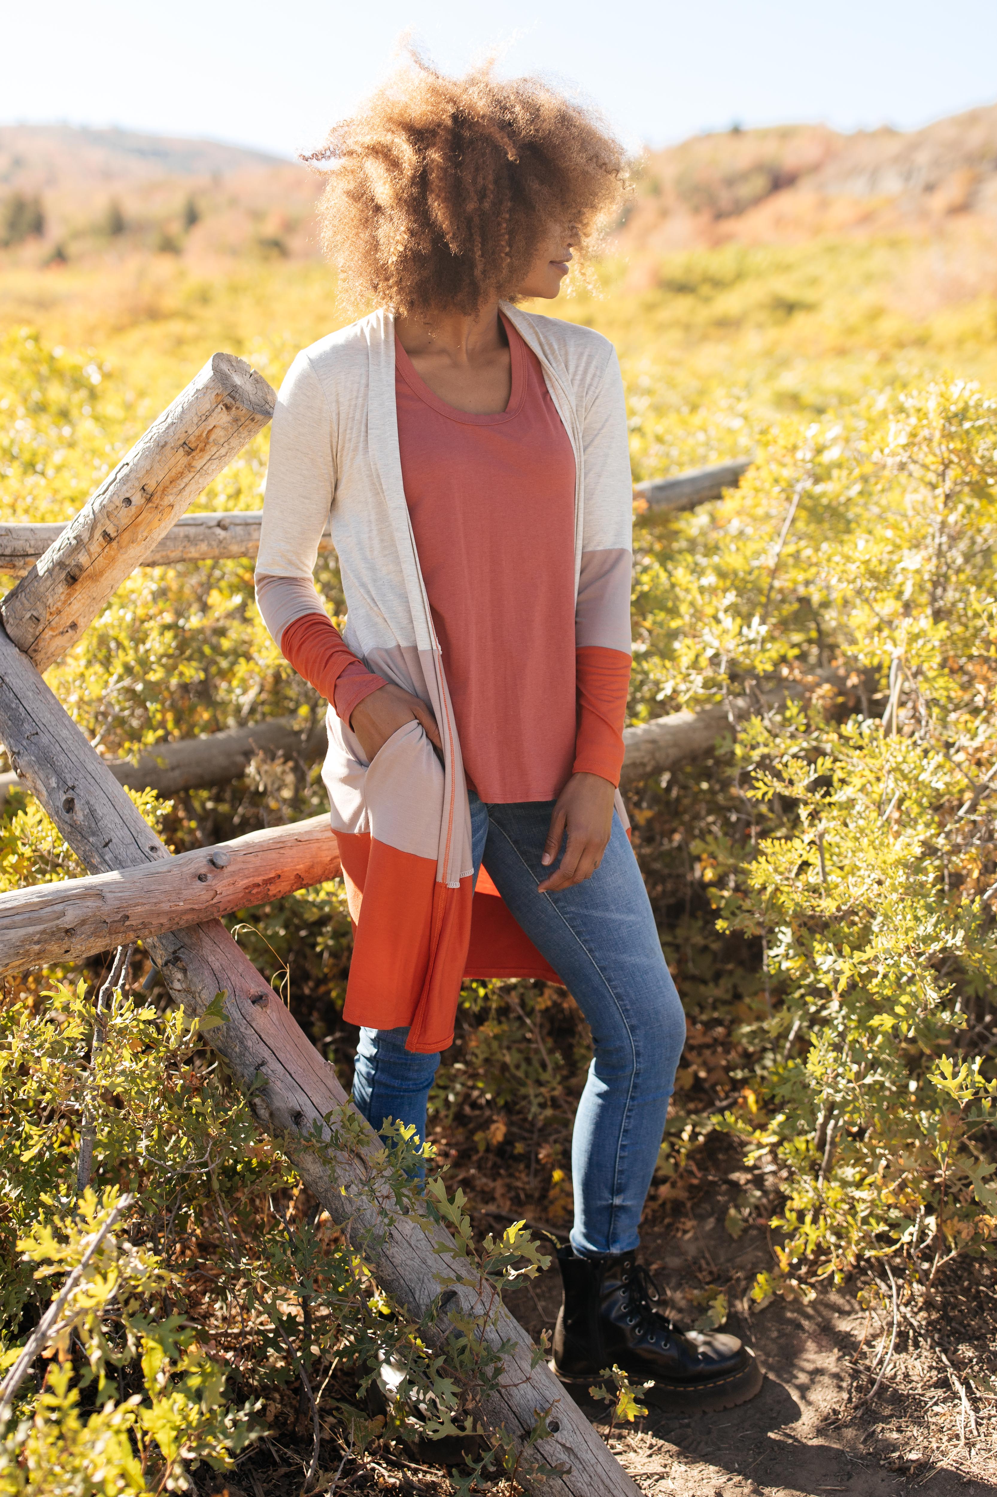
M634 1382L653 1379L647 1397L670 1409L734 1409L759 1391L761 1368L735 1335L679 1331L655 1308L658 1289L634 1253L578 1257L562 1247L558 1263L552 1367L564 1383L590 1383L616 1364Z

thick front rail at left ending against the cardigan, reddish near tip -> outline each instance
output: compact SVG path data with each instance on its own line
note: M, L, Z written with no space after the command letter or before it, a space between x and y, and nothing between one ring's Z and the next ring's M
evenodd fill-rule
M0 894L0 978L146 940L339 874L327 816L135 868Z

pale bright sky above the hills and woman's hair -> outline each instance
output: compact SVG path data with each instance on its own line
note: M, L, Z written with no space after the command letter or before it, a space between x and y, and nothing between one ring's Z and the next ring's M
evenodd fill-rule
M997 0L0 0L0 123L291 156L384 78L407 30L451 72L498 46L501 72L570 84L631 147L732 123L916 129L997 102Z

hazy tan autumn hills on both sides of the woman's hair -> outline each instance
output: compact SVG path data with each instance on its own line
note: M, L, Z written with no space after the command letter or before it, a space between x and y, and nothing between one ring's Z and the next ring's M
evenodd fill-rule
M215 141L72 126L0 126L7 265L94 263L127 251L312 259L321 180ZM613 249L637 265L676 250L903 235L972 246L942 299L991 284L997 105L922 130L822 124L732 129L649 153Z

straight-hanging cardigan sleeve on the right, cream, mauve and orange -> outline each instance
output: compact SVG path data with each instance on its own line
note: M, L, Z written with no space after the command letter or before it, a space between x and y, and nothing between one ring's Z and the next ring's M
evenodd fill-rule
M623 380L610 349L583 413L584 527L575 603L574 774L619 784L631 672L634 488Z

